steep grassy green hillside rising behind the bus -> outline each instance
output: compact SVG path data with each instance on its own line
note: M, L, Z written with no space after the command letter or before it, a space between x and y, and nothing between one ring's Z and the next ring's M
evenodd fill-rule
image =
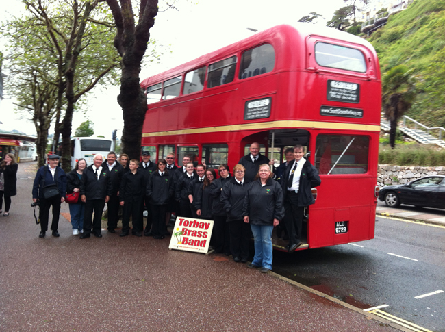
M382 74L399 64L413 69L418 94L407 115L445 127L445 0L414 0L368 40Z

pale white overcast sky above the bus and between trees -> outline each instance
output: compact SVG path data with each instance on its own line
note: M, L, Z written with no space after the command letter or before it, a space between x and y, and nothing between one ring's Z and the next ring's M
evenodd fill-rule
M200 0L198 3L179 0L177 10L157 14L151 37L168 51L162 55L160 63L145 65L140 79L249 37L254 32L246 29L248 27L262 31L279 24L295 23L309 12L318 12L329 21L333 12L343 5L343 0ZM1 0L0 20L8 17L8 13L20 14L24 10L19 0ZM320 20L318 24L325 25L325 22ZM2 51L3 45L3 40L0 40ZM7 68L3 70L7 72ZM88 112L74 115L73 132L80 123L89 119L94 123L95 136L111 138L112 129L118 129L120 137L123 120L122 110L116 101L118 92L119 88L113 86L95 88L87 101ZM12 99L0 102L0 121L3 123L0 128L18 129L35 135L34 124L29 120L19 120L12 102Z

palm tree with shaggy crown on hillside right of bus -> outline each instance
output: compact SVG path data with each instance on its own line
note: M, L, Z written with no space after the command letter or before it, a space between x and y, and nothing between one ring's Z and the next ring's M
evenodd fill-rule
M416 99L416 80L407 66L395 66L383 75L381 98L385 118L390 121L390 146L394 149L398 118Z

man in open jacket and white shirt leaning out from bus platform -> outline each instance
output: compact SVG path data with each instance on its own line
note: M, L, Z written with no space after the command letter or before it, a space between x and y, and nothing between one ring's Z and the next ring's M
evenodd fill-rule
M288 252L301 246L301 227L305 206L315 203L312 188L320 186L317 169L303 158L303 146L294 146L294 162L290 162L281 179L284 195L284 219L289 235Z

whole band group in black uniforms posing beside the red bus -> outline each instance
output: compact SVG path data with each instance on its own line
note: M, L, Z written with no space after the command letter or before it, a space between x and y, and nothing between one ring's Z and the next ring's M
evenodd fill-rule
M318 172L303 157L303 146L285 151L286 162L275 174L270 170L267 157L259 153L259 144L253 143L250 153L233 167L233 176L227 164L218 167L218 175L205 164L194 164L189 156L182 166L175 165L175 154L151 162L150 153L142 152L142 162L128 161L127 155L110 152L104 161L95 155L93 164L86 166L84 159L66 177L58 167L58 155L49 156L48 166L42 166L34 180L33 200L40 201L39 236L43 238L48 227L49 208L53 206L53 236L58 237L58 214L65 194L78 193L77 203L70 203L73 235L81 239L91 233L100 238L101 216L107 204L107 231L115 233L119 208L123 209L123 227L120 236L153 236L163 239L169 235L167 225L172 213L188 218L214 220L210 245L215 253L232 255L236 262L247 262L249 240L254 237L255 256L249 268L272 270L272 230L289 239L288 251L301 246L301 228L304 207L314 203L311 188L320 185ZM292 155L291 155L292 154ZM293 157L291 159L291 157ZM48 188L56 188L49 197ZM73 205L73 207L71 206ZM143 211L147 208L147 225L143 228ZM94 220L92 213L94 212Z

